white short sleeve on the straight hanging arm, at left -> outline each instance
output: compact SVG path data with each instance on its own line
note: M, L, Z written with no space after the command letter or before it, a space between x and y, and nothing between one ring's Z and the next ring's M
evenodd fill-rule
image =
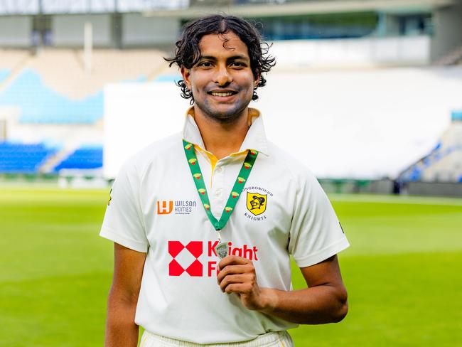
M111 189L100 236L147 252L149 242L139 204L139 174L133 161L122 166Z

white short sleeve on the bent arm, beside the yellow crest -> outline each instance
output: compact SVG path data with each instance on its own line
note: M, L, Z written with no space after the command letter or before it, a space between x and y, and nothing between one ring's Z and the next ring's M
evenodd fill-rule
M326 193L311 172L300 179L291 221L289 252L299 267L328 259L349 246Z

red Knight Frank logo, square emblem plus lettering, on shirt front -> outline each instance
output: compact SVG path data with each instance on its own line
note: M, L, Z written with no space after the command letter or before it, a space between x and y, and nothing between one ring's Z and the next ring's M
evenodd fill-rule
M217 244L218 241L190 241L188 245L183 245L180 241L168 241L168 254L173 258L168 263L168 275L184 276L186 272L191 277L212 277L214 274L218 274L219 259L215 252ZM229 255L258 261L258 248L255 246L236 247L232 242L227 242L227 247ZM205 258L205 262L201 262L199 257L208 258ZM207 266L206 274L203 271L203 264Z

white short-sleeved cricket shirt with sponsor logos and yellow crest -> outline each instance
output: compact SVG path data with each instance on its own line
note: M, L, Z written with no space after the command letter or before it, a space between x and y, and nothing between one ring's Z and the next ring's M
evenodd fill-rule
M220 291L219 259L213 250L217 232L198 196L182 139L195 145L217 219L247 149L259 151L221 237L229 242L230 254L252 260L260 287L291 290L290 254L299 267L308 267L348 247L316 178L267 141L262 117L250 111L252 125L239 153L216 160L205 151L188 114L183 134L140 151L114 181L100 235L148 253L135 322L151 333L195 343L224 343L296 326L249 311L237 295Z

